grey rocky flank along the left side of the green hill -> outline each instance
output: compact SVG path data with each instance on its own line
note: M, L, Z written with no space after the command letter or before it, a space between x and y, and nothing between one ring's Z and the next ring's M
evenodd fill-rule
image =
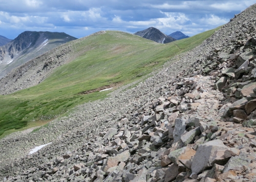
M105 31L100 31L90 36L96 36L104 33ZM87 37L74 41L79 42ZM12 69L8 74L6 74L5 77L0 79L0 94L10 94L18 90L32 87L44 81L55 68L72 61L78 56L68 54L73 53L70 46L72 43L73 41L62 44L59 47L53 48L50 51L47 51L45 54L42 54L41 56L38 56L27 63Z

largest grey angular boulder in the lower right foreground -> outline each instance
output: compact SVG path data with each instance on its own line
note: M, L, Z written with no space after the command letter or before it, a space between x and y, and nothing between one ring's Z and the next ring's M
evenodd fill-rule
M227 162L225 151L229 147L221 140L212 140L198 146L197 152L192 162L192 173L199 174L204 169L212 167L214 164L223 165Z

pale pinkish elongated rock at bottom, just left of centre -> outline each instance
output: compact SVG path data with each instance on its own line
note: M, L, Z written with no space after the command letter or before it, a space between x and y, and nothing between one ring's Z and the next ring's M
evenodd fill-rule
M130 158L130 156L131 154L129 150L125 150L122 153L117 154L115 157L109 157L103 171L106 172L109 168L117 166L119 162L125 162Z

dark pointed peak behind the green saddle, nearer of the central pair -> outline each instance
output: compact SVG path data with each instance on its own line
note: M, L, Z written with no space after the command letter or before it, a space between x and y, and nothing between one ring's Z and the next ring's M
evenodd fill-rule
M158 30L154 27L150 27L150 28L145 29L143 31L136 32L134 34L138 35L140 37L143 37L145 39L150 39L150 40L153 40L155 42L163 43L163 44L173 42L173 41L176 40L172 37L168 37L167 35L165 35L160 30Z

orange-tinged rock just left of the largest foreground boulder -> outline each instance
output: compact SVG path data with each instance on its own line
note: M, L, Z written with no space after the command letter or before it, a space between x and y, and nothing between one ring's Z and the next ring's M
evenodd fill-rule
M178 150L171 151L168 154L168 158L170 161L172 161L174 164L179 165L179 160L190 160L194 155L196 154L196 151L192 147L182 147Z

